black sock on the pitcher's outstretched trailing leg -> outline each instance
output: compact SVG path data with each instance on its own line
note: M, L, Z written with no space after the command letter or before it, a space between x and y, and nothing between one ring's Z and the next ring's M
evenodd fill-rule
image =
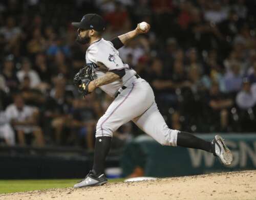
M213 152L211 142L207 142L188 132L179 132L177 137L177 145L187 148L202 149L208 152Z

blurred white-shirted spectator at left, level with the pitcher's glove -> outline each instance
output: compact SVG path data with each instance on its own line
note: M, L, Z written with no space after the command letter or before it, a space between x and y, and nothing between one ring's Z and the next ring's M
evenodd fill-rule
M41 82L39 75L36 71L31 69L31 62L28 58L23 58L22 69L17 72L17 77L20 82L23 82L24 77L28 76L30 80L30 86L32 88L39 87Z

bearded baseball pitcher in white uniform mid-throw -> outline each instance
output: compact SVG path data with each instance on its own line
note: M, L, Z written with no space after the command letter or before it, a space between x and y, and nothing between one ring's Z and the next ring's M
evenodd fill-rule
M78 91L87 95L99 87L115 98L96 126L93 168L75 188L107 183L104 162L110 150L113 132L131 120L161 145L202 149L219 157L224 165L231 164L232 153L220 136L208 142L187 132L170 129L158 110L150 84L119 57L117 49L129 39L147 33L150 25L146 24L143 29L138 25L135 30L111 41L102 38L105 23L98 14L86 14L80 22L72 25L77 28L77 41L89 45L86 67L74 78Z

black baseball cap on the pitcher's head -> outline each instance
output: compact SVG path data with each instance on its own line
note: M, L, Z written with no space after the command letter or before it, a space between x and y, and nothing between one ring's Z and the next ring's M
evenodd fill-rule
M98 14L86 14L80 22L73 22L72 25L78 29L94 29L95 31L104 31L105 22Z

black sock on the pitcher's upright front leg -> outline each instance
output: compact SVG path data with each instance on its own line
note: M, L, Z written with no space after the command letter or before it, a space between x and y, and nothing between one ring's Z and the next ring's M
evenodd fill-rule
M93 170L97 175L104 173L106 156L109 154L112 137L97 137L94 147Z

